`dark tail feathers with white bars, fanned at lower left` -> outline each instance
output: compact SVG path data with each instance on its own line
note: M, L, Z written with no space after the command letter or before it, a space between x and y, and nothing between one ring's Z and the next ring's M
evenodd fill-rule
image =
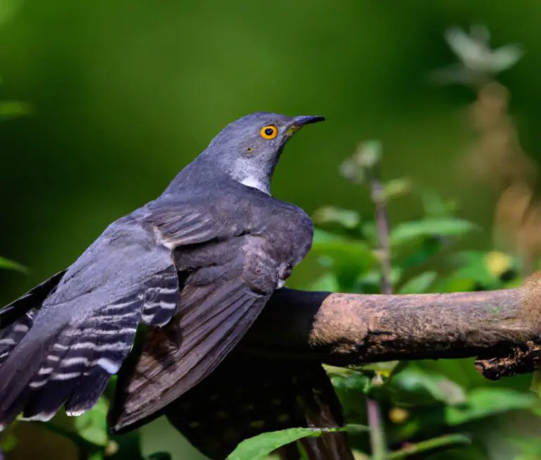
M0 332L0 430L21 411L25 418L49 420L61 406L68 415L91 409L128 356L139 321L167 322L180 296L171 266L111 303L89 309L84 299L50 302L34 318L39 305L28 309L28 299L42 302L43 286L51 292L60 278L8 306L11 323Z

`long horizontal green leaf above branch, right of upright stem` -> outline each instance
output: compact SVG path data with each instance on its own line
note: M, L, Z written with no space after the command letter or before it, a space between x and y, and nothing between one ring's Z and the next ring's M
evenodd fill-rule
M424 237L459 237L478 228L469 220L459 218L428 218L399 223L390 235L393 246L400 246Z

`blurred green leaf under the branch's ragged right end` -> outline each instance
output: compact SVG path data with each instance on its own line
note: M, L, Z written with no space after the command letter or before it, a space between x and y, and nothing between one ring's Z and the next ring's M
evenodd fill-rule
M469 421L503 414L514 409L535 410L537 396L511 388L476 388L468 394L466 404L445 408L448 425L461 425Z

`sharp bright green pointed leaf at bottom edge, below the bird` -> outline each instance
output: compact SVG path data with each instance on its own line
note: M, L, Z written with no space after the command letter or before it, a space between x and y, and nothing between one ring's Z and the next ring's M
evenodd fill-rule
M345 428L289 428L251 437L242 441L228 456L227 460L263 459L278 447L295 442L303 437L319 437L323 433L344 431Z

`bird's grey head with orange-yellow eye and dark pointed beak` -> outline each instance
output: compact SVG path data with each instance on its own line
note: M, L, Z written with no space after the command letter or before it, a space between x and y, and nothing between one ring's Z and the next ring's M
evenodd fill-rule
M323 120L322 116L251 113L220 131L201 156L230 178L269 193L270 179L287 141L304 125Z

